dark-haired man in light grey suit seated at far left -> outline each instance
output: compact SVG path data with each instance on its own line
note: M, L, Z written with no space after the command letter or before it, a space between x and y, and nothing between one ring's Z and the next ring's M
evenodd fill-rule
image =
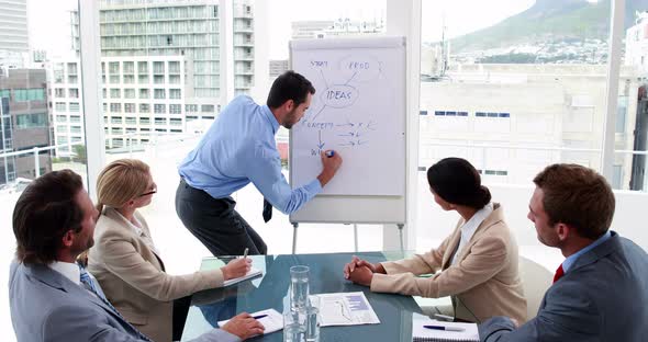
M18 247L9 276L18 341L150 341L75 263L93 244L98 214L81 178L70 170L49 172L21 194L13 210ZM232 321L197 341L241 341L262 332L248 314Z

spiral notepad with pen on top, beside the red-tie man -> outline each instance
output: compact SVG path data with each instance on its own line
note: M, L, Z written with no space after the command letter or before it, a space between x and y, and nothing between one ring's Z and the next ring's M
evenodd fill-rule
M457 327L462 328L463 331L434 330L423 328L423 326ZM414 342L479 342L479 331L476 323L445 322L424 315L412 314L412 340Z

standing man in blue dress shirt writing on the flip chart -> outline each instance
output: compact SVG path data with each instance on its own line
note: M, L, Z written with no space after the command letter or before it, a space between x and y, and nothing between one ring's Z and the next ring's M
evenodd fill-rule
M322 172L310 183L292 190L281 173L275 134L280 125L290 129L302 118L314 93L309 80L287 71L272 83L266 105L245 95L234 99L178 167L176 212L212 254L239 255L246 248L250 254L267 252L264 240L234 209L233 192L252 182L266 198L267 221L272 206L284 214L297 212L337 172L339 155L323 151Z

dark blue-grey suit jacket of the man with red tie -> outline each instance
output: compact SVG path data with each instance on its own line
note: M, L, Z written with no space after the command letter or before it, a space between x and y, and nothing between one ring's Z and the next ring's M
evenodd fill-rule
M479 327L481 341L646 341L648 254L612 237L577 259L540 304L538 316L515 330L495 317Z

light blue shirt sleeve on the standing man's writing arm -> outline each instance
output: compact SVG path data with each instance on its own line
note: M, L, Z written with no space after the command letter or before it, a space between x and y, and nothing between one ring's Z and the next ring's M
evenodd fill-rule
M292 190L281 173L281 159L273 146L257 142L254 147L254 158L248 158L245 168L247 176L258 191L273 207L283 214L292 214L299 210L306 202L322 192L322 185L317 179Z

